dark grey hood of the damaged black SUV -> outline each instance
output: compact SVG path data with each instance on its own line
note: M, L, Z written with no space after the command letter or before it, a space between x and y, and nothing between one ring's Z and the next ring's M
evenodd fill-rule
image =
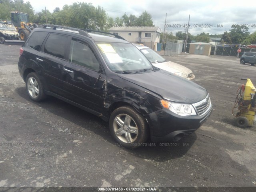
M174 102L196 103L208 94L207 90L198 84L164 70L118 76Z

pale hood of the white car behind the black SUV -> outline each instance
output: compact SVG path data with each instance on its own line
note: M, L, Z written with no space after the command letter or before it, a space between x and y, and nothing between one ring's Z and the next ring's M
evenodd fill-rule
M162 62L162 63L152 63L152 65L171 73L183 73L186 76L188 76L188 74L193 73L189 68L186 68L178 63L174 63L171 61Z

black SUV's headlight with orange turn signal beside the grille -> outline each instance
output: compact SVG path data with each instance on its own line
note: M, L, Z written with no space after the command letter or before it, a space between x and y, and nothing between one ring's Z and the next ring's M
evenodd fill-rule
M166 100L161 100L161 104L164 108L180 116L196 115L196 111L191 104L174 103Z

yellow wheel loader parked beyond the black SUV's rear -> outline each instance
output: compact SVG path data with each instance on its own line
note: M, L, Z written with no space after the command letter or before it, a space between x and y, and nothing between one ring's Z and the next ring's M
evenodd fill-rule
M20 34L20 40L25 41L31 31L37 27L34 23L28 23L28 14L12 11L11 12L12 24L14 24L18 33Z

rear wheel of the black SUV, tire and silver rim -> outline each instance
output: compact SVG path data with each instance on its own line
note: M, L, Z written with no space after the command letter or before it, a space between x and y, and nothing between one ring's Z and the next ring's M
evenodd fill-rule
M26 90L30 99L35 102L39 102L46 97L44 86L35 72L29 73L26 77Z

